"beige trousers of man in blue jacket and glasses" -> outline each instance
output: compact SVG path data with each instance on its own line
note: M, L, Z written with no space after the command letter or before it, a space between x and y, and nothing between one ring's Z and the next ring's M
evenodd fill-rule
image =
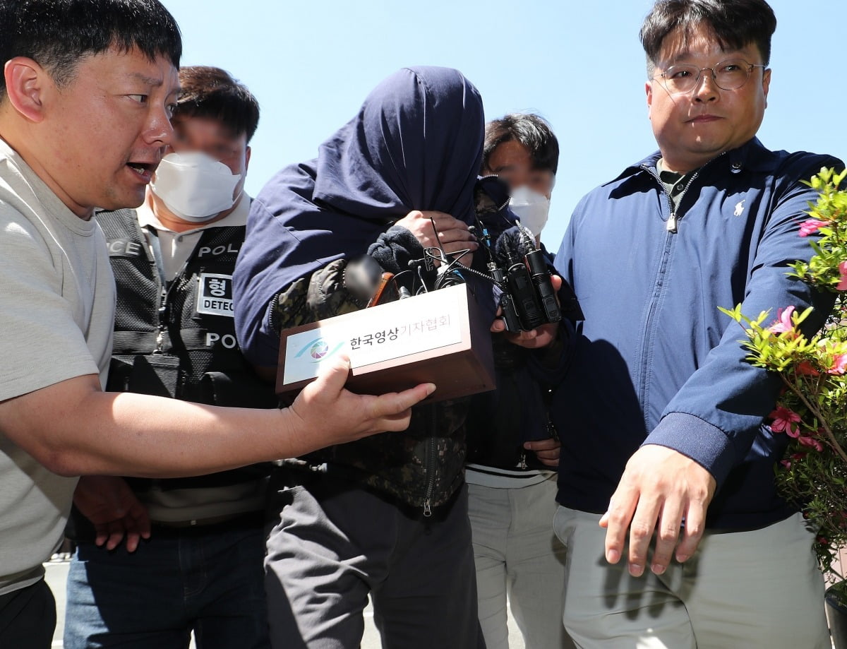
M761 530L706 533L661 577L604 558L600 516L559 507L564 623L580 649L829 649L823 580L800 514ZM649 563L648 563L649 565Z

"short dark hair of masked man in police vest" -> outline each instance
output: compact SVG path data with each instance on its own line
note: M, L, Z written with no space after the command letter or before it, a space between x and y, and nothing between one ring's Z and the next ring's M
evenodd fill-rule
M224 69L191 65L180 69L180 98L174 118L216 119L232 135L249 142L259 124L259 103L243 83Z

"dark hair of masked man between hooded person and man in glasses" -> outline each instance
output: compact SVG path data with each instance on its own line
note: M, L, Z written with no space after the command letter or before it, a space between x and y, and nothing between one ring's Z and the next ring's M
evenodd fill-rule
M532 158L533 169L550 169L554 174L559 167L559 141L546 119L532 113L512 113L492 119L485 125L482 149L482 169L488 166L491 153L503 142L518 141Z

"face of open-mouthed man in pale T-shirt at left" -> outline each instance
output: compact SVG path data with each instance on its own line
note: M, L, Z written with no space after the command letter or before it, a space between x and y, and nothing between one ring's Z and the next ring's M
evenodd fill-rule
M138 207L172 135L174 65L109 49L83 58L67 86L46 83L42 180L83 218Z

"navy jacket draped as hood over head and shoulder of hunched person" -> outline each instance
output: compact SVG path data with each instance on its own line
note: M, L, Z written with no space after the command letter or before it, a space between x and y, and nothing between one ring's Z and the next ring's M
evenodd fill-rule
M318 158L282 169L252 202L233 275L235 326L252 363L274 365L279 341L268 303L338 258L356 258L414 209L473 223L482 160L479 92L458 70L399 70L356 117L318 147Z

